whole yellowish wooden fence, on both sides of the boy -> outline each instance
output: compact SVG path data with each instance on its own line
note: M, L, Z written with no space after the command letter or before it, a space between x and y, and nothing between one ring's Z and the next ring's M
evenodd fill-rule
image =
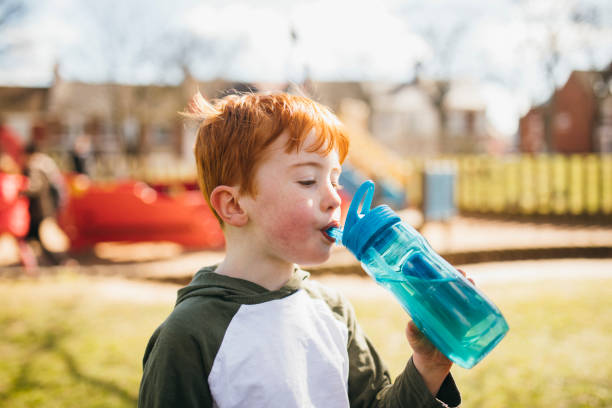
M55 158L70 169L67 157ZM384 169L384 173L404 185L408 202L419 206L424 169L441 162L450 164L456 173L455 202L460 212L612 215L612 154L411 158L404 161L403 168ZM169 158L108 157L96 161L94 168L98 179L127 176L150 183L195 181L192 163Z

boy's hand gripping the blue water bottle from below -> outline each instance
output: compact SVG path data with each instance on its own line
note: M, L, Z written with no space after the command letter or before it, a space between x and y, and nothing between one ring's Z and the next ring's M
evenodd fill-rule
M466 276L465 272L458 269L463 276ZM471 278L467 278L472 284L474 281ZM413 321L408 322L406 326L406 337L408 343L414 354L412 355L412 361L421 377L425 381L427 388L436 395L440 390L442 382L450 372L451 366L453 365L444 354L440 352L430 341L425 337L419 328L414 324Z

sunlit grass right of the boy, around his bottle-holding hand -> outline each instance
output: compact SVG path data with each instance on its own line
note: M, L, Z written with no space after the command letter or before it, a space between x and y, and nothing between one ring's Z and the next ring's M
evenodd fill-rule
M612 406L611 279L489 284L483 290L510 331L471 370L453 368L463 406ZM407 317L395 302L381 302L386 300L356 302L355 308L397 375L410 355Z

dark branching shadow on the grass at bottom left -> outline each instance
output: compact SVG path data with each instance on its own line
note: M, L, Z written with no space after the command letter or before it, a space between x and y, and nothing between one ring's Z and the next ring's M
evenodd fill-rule
M6 391L0 392L0 406L4 405L7 400L10 400L18 393L48 387L44 383L32 379L32 366L35 363L37 356L49 352L55 353L62 359L68 373L75 381L99 388L106 394L114 394L130 405L136 404L137 397L119 387L117 384L113 383L112 381L93 377L81 370L75 358L60 346L61 340L67 337L69 334L69 330L61 327L47 327L44 332L29 333L30 338L38 340L37 344L26 356L25 363L21 365L19 373L13 380L12 384Z

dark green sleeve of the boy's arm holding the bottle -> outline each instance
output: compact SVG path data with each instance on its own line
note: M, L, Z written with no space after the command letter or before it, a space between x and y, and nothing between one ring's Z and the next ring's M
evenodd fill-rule
M349 328L349 400L351 407L429 408L456 407L461 396L449 374L434 397L431 395L412 358L404 371L391 383L391 376L374 346L356 321L347 303L345 316Z

